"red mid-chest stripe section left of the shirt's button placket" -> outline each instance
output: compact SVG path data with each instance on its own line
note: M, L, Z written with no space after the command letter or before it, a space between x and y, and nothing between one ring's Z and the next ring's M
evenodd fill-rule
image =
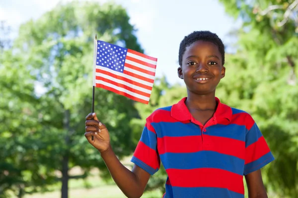
M198 152L202 150L201 136L185 136L185 137L162 137L157 138L157 148L159 154L166 152L188 153ZM177 147L179 145L179 147Z

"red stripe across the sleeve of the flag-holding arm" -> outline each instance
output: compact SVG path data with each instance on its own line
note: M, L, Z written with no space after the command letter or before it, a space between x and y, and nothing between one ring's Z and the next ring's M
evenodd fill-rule
M159 168L160 166L159 156L157 156L156 151L141 141L138 143L134 156L153 169Z

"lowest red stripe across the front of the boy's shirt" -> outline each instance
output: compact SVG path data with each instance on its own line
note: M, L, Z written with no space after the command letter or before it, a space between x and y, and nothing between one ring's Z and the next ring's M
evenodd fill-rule
M167 169L166 172L172 186L226 188L244 195L243 176L223 169Z

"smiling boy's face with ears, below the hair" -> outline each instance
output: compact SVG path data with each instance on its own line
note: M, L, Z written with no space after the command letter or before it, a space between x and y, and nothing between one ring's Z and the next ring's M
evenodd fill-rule
M218 47L206 41L196 41L187 47L178 68L178 76L184 79L187 89L199 95L215 92L224 74Z

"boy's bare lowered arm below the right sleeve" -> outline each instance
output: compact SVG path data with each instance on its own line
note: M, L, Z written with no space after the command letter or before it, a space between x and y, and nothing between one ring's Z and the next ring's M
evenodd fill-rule
M245 180L248 198L268 198L260 169L245 175Z

